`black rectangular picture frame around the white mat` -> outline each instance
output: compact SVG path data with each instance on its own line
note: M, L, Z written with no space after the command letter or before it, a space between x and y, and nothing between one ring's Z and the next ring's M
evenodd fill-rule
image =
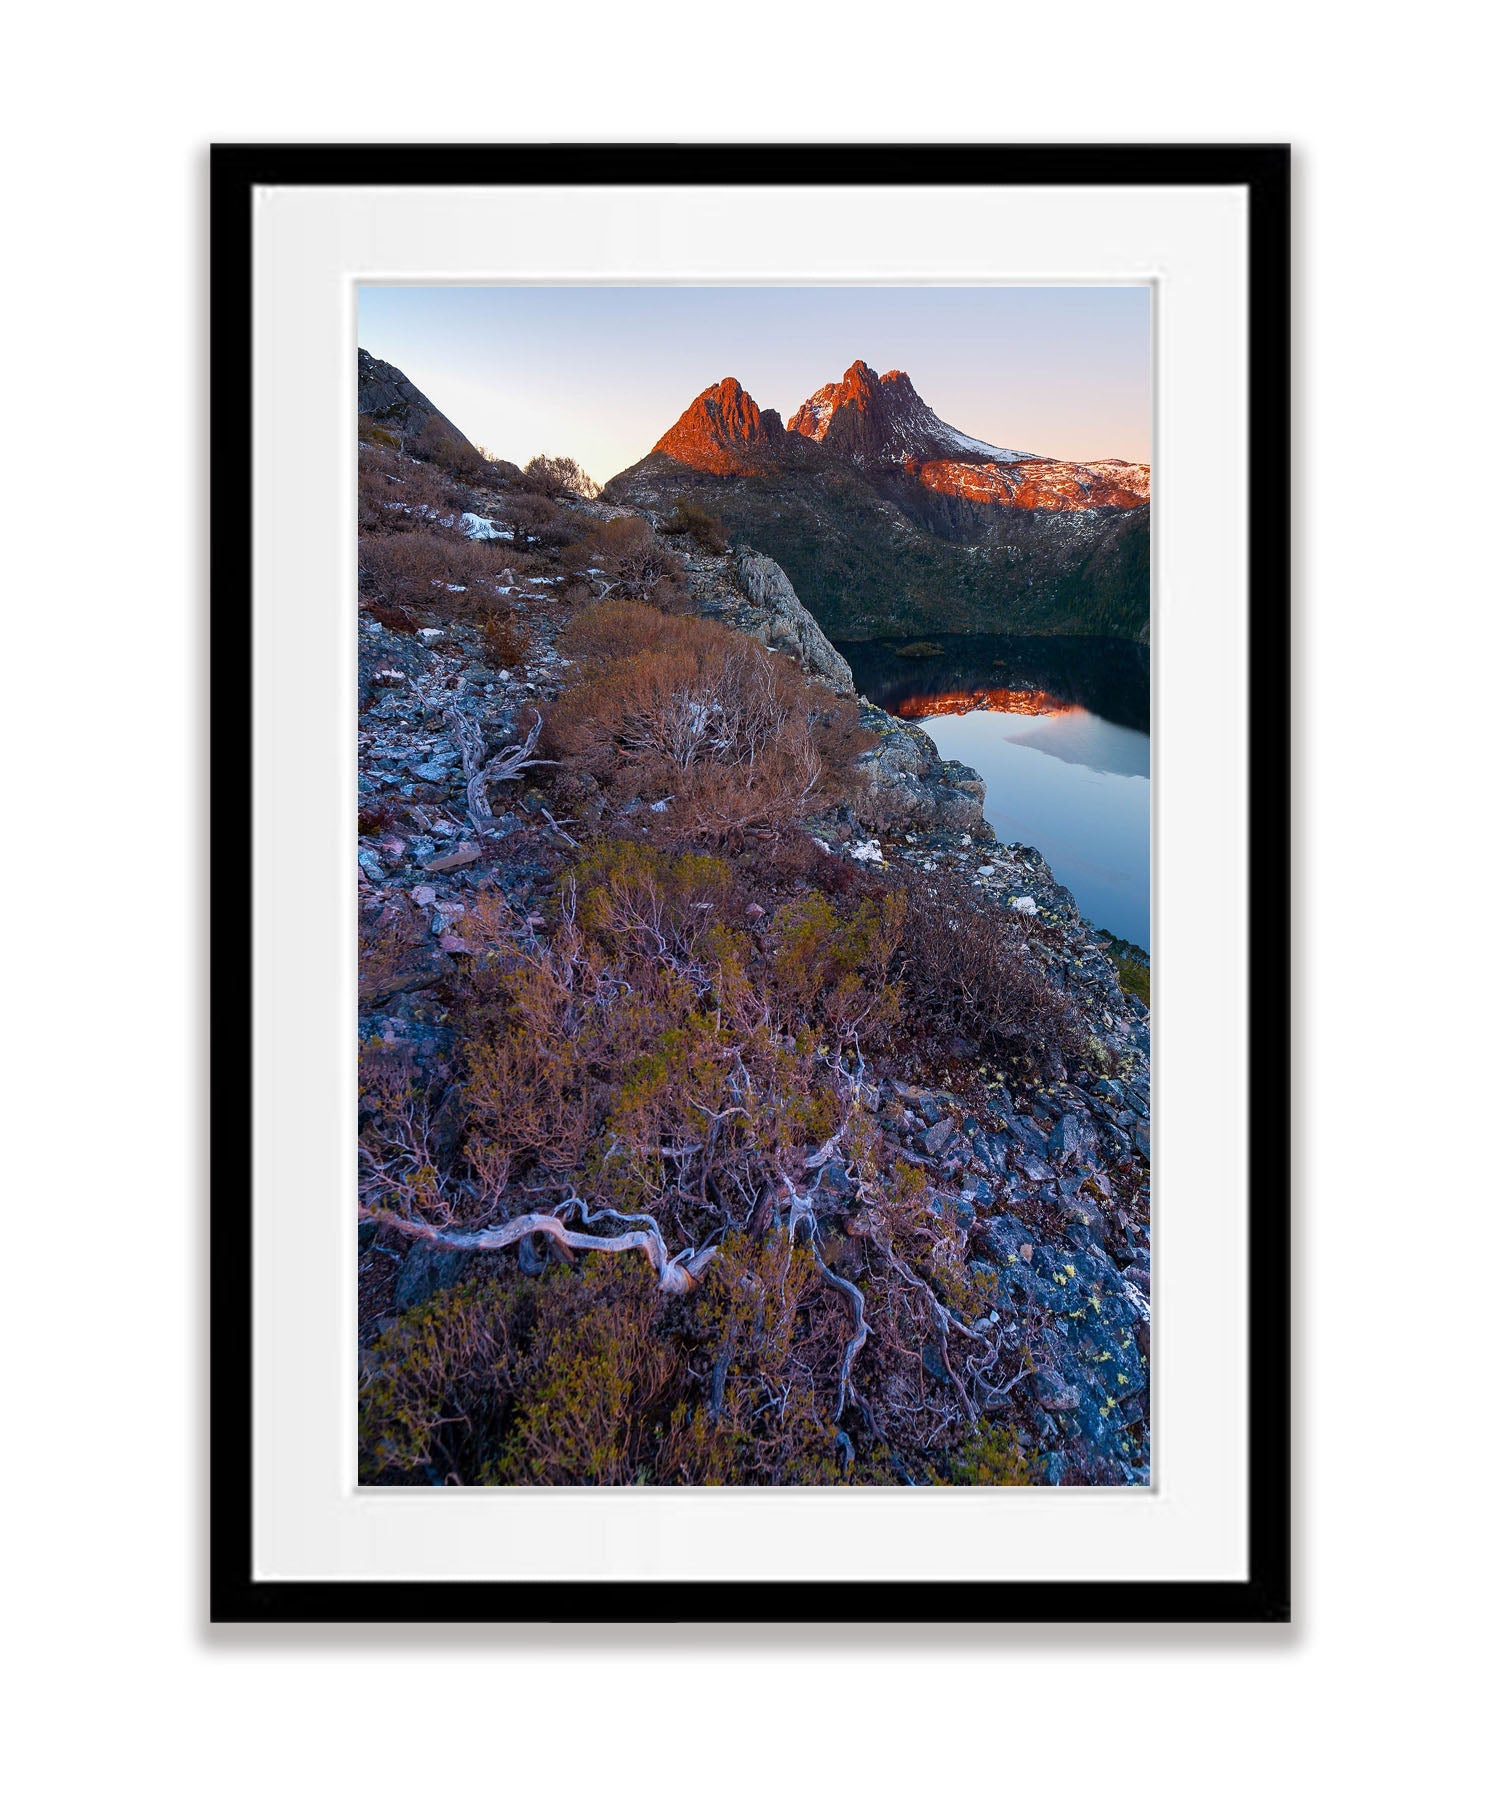
M252 196L286 185L1221 185L1248 196L1250 335L1250 1343L1244 1580L495 1582L258 1580L252 1570ZM211 1433L212 1622L1286 1622L1289 1442L1291 153L1284 144L306 146L211 153Z

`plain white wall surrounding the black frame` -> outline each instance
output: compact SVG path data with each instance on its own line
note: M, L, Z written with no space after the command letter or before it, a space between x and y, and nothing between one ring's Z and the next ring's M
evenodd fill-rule
M29 9L4 130L18 1791L1453 1793L1493 1703L1484 14ZM1491 45L1493 50L1493 45ZM209 1633L211 139L1289 139L1298 1624ZM1487 1762L1487 1759L1486 1759Z

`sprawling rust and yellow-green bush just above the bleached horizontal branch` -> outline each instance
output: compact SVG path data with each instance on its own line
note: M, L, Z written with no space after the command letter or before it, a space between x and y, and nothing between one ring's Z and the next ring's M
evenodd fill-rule
M497 1204L519 1181L562 1181L686 1208L695 1229L722 1181L749 1208L767 1170L837 1127L828 1057L897 1017L891 911L792 904L762 945L735 923L727 864L634 841L569 869L558 909L551 940L479 970L454 1019L470 1157Z

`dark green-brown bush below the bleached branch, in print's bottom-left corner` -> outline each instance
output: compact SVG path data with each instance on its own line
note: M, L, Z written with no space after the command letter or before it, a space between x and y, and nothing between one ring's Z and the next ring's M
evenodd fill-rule
M639 1258L468 1282L376 1341L360 1472L461 1485L827 1485L843 1316L807 1246L736 1233L664 1307ZM859 1480L895 1480L875 1456Z

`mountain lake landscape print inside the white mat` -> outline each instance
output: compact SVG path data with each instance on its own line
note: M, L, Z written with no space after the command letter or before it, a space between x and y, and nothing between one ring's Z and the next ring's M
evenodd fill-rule
M1151 356L358 286L362 1485L1151 1485Z

